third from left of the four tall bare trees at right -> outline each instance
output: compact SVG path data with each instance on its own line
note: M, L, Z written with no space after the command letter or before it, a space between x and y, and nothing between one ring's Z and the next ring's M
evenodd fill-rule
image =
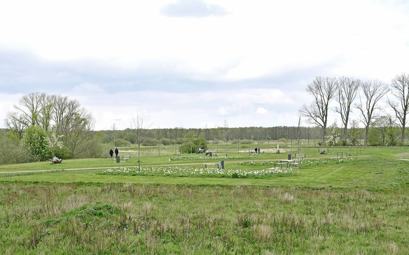
M379 100L389 91L389 88L380 80L368 80L361 84L363 96L360 95L360 103L355 107L361 111L361 122L365 125L364 146L368 145L368 132L378 115L375 111L379 109ZM362 103L364 98L364 103Z

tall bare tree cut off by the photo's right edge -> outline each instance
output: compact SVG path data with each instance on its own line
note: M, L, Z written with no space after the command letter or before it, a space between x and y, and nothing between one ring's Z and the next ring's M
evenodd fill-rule
M409 109L409 74L402 73L392 79L391 93L398 99L398 102L393 102L388 98L388 103L395 112L396 118L399 120L398 124L402 129L400 141L405 143L406 115Z

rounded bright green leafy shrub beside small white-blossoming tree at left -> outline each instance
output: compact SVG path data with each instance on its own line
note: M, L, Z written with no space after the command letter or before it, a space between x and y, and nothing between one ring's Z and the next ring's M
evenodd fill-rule
M26 149L33 153L33 155L40 160L45 160L49 155L49 147L46 137L47 132L45 132L40 126L31 125L25 131L22 143Z

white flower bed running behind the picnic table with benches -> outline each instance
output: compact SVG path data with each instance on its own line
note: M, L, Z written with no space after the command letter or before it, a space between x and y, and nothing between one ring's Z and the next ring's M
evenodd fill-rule
M339 163L347 163L347 162L357 162L368 160L364 157L343 157L343 158L320 158L320 159L304 159L301 161L301 166L316 166L316 165L331 165L331 164L339 164ZM248 161L248 162L240 162L238 165L242 166L274 166L274 164L278 163L279 161Z

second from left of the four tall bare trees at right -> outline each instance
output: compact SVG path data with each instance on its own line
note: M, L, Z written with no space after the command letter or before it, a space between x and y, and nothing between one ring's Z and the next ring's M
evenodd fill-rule
M352 103L358 94L360 80L351 77L340 77L337 82L337 100L339 108L335 111L341 115L342 132L344 140L346 140L346 131L348 129L349 114L351 113ZM341 142L339 143L341 145Z

